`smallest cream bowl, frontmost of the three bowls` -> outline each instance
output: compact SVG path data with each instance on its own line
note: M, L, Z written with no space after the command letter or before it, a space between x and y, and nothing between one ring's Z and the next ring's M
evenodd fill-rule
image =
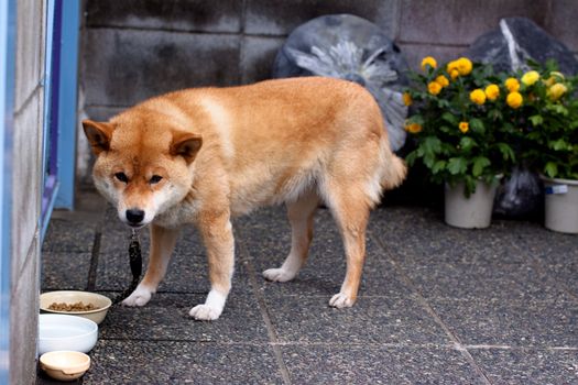
M88 371L90 358L73 351L48 352L41 355L40 367L55 380L73 381Z

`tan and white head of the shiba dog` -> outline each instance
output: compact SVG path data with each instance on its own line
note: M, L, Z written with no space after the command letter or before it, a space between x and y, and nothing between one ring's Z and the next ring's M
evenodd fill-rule
M110 122L83 121L97 156L95 185L133 228L151 223L190 190L203 140L171 124L130 114Z

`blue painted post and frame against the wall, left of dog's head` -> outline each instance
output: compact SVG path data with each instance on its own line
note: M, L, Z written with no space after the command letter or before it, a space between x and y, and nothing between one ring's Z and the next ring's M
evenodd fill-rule
M74 208L80 1L47 2L41 239L53 208Z

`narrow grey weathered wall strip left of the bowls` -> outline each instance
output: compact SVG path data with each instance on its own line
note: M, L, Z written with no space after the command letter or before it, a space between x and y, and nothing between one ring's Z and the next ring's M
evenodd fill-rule
M35 378L39 315L39 218L42 180L42 127L45 9L43 1L19 0L12 186L12 290L10 377Z

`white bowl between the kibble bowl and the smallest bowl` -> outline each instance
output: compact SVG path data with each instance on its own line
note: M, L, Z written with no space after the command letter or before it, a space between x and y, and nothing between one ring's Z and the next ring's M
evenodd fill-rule
M39 353L72 350L88 353L96 344L98 324L86 318L64 315L40 315Z

